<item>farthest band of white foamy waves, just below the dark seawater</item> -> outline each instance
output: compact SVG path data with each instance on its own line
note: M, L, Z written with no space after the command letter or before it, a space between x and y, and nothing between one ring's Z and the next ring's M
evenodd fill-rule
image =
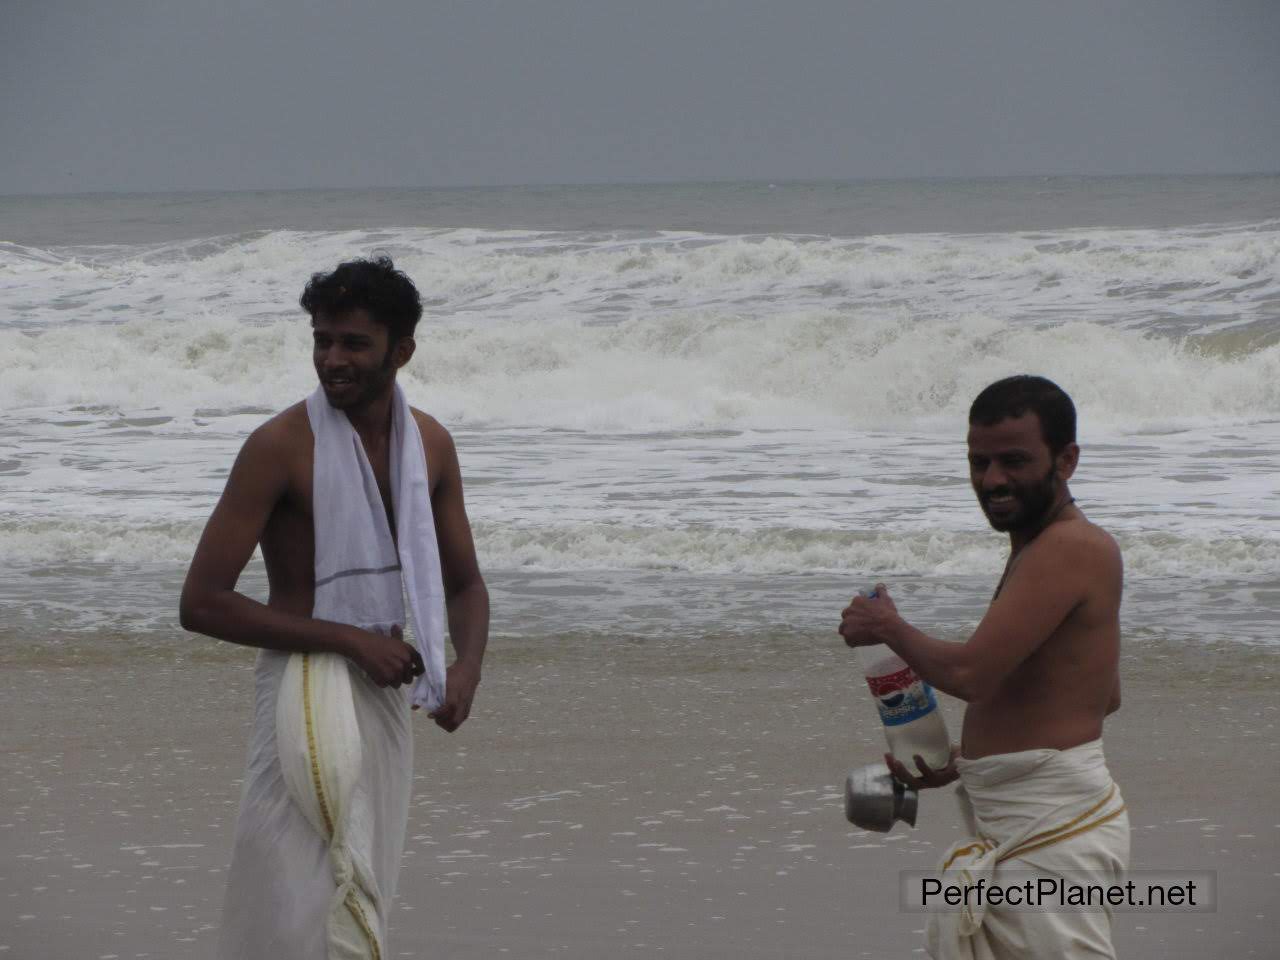
M398 229L274 230L159 246L0 243L4 301L28 324L120 315L296 315L308 275L393 253L430 315L541 319L777 305L980 310L1024 323L1087 316L1187 329L1251 319L1280 296L1280 221L1219 229L722 237ZM1270 306L1268 306L1270 305Z

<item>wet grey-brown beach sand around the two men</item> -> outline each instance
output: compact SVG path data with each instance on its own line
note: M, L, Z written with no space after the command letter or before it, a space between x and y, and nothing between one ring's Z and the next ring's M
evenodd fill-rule
M212 956L252 652L109 634L0 652L0 960ZM1219 902L1119 916L1120 955L1275 956L1275 654L1143 640L1123 669L1106 745L1133 868L1216 870ZM833 632L499 635L470 722L417 719L388 954L923 955L899 870L932 865L959 814L948 788L914 831L845 822L874 723Z

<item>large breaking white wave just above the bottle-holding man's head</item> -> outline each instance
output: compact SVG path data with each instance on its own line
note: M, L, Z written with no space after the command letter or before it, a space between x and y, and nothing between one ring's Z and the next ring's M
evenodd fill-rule
M0 403L178 416L278 410L314 389L310 351L308 329L293 320L0 329ZM421 332L401 381L448 424L625 431L955 421L983 385L1012 372L1055 379L1093 429L1280 416L1280 343L1207 349L1097 323L1028 326L980 312L449 324Z

